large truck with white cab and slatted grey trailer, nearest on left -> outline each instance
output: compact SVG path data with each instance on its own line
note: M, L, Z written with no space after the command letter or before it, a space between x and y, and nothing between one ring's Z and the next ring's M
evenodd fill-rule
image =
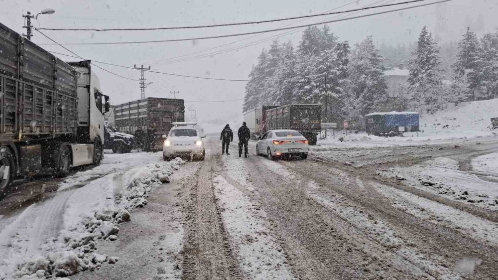
M90 65L63 62L0 23L0 198L15 178L101 162L109 97Z

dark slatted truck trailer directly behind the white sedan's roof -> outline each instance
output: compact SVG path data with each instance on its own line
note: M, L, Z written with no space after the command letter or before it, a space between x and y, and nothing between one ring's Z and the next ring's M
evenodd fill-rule
M320 104L289 104L264 111L263 131L296 130L310 145L316 144L316 136L321 130Z

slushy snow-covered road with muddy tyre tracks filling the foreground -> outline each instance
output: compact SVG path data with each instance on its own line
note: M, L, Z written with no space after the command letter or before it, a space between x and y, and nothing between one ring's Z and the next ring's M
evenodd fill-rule
M10 275L29 274L43 262L12 264L76 244L84 271L71 278L82 280L496 277L498 186L486 169L496 139L316 146L307 160L255 156L254 142L249 158L236 149L222 156L221 144L207 139L206 160L181 166L160 153L108 154L103 165L60 182L51 198L2 216L1 264ZM171 182L158 182L161 175ZM467 200L443 187L467 191ZM144 196L148 204L133 209ZM131 221L118 224L112 217L124 210ZM81 214L94 218L81 223ZM101 238L84 244L86 224ZM118 236L106 237L113 226ZM41 256L52 272L71 258Z

